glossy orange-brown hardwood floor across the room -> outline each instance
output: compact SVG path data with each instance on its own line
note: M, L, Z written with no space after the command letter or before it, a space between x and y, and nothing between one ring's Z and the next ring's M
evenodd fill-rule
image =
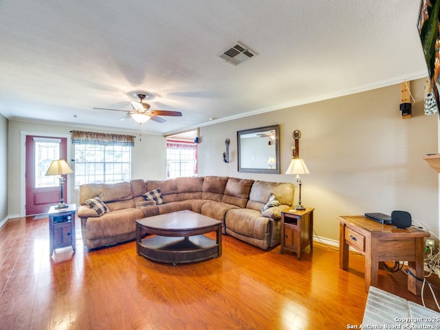
M77 221L79 225L80 221ZM0 329L347 329L360 325L364 257L320 243L296 254L264 252L223 236L223 255L164 265L135 242L49 256L48 219L12 219L0 230ZM381 289L421 304L406 276L380 271ZM434 309L432 299L428 306Z

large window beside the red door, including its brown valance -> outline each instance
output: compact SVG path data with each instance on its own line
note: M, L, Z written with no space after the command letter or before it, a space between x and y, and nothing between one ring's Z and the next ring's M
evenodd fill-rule
M72 131L75 145L75 188L131 180L134 136Z

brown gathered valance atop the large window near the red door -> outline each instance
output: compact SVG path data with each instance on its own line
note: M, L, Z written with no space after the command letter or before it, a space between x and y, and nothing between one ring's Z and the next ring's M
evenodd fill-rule
M98 144L100 146L134 146L133 135L72 131L72 144Z

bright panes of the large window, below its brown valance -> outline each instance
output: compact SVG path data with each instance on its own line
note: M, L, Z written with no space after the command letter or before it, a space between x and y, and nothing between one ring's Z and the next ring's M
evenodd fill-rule
M130 180L130 146L75 144L75 188Z

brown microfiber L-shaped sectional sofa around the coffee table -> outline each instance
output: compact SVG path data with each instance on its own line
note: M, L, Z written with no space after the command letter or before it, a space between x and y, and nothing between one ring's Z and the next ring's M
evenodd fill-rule
M160 189L164 203L144 194ZM261 211L274 194L280 206ZM102 214L85 201L100 197L110 212ZM281 211L292 207L294 185L235 177L179 177L164 181L133 179L118 184L80 186L78 217L84 245L99 248L135 239L135 220L179 210L192 210L223 223L223 234L263 250L280 242Z

